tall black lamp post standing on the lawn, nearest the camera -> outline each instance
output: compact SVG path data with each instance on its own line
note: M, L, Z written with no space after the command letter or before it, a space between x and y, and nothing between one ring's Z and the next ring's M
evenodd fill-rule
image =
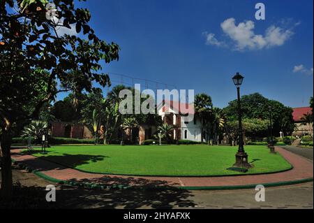
M234 85L236 85L237 87L238 119L239 119L239 149L238 149L237 154L235 154L236 162L234 166L250 168L252 166L248 163L248 154L246 154L246 152L244 151L244 143L243 143L241 99L240 99L240 86L243 82L243 79L244 77L240 73L237 73L232 78Z

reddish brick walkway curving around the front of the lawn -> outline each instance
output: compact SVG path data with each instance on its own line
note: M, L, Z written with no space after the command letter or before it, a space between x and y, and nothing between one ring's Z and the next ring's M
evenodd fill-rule
M297 154L276 147L287 161L294 166L292 170L282 173L270 173L260 175L238 175L223 177L137 177L123 175L103 175L96 173L84 173L73 168L61 166L27 154L21 154L20 149L11 150L12 158L18 163L38 169L45 175L59 180L75 180L79 182L96 182L100 185L136 185L136 186L181 186L181 187L217 187L217 186L241 186L269 184L275 182L288 182L313 178L313 162L304 159Z

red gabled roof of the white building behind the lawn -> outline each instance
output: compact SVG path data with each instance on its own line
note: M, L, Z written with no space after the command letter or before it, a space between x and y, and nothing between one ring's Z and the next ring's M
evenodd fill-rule
M194 110L194 105L193 103L180 103L179 101L167 101L164 100L162 103L159 103L157 106L157 110L163 109L163 112L167 109L171 109L174 111L174 113L181 114L184 113L186 114L186 110L188 111L188 114L194 115L195 110ZM186 108L186 110L182 110L182 108Z

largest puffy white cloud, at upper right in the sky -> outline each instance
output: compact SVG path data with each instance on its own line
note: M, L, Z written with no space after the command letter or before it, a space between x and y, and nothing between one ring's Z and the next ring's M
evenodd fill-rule
M267 28L264 36L255 34L255 24L248 20L236 24L233 17L228 18L220 24L223 33L232 40L232 48L234 50L260 50L263 48L271 48L283 45L293 34L292 29L299 23L294 24L290 29L283 29L271 25ZM223 42L215 38L215 34L207 34L207 45L222 46ZM226 44L224 44L226 45Z

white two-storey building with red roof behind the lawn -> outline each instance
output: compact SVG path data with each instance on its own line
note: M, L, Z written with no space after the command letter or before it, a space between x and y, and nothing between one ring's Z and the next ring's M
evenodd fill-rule
M201 141L201 122L194 116L193 121L184 122L181 118L181 109L188 108L187 103L174 103L174 101L164 101L157 106L157 113L161 116L164 123L177 126L174 129L172 136L174 140L183 139L190 141ZM194 109L188 110L189 114L195 114ZM206 134L203 134L203 141L206 141Z

